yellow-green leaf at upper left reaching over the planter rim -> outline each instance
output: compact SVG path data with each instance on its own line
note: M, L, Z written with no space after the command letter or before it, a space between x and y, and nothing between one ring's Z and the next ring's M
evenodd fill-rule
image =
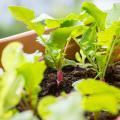
M33 22L36 18L34 11L21 6L9 6L12 15L19 21L24 22L29 29L35 30L38 35L44 33L44 26L39 22Z

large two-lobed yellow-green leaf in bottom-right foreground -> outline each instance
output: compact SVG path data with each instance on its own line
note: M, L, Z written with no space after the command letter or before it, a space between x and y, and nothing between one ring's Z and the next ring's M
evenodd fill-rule
M85 110L118 113L120 102L120 90L118 88L95 79L77 81L73 86L82 94L82 104Z

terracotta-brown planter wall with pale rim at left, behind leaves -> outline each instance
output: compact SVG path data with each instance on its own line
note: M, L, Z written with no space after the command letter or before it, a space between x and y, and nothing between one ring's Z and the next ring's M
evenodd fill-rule
M44 34L49 34L51 31L52 29L46 29ZM36 50L44 52L45 50L44 46L36 42L36 37L37 37L36 32L32 30L32 31L28 31L28 32L24 32L24 33L20 33L17 35L0 39L0 67L2 67L1 65L2 50L10 42L17 41L22 43L24 45L24 51L26 53L33 53Z

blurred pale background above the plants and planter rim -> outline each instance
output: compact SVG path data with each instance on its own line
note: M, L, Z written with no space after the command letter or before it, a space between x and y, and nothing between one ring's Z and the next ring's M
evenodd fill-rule
M101 9L109 10L114 2L120 0L0 0L0 38L27 31L26 27L15 21L8 11L8 6L18 5L30 8L36 15L42 13L52 17L64 17L71 12L80 12L81 3L93 1Z

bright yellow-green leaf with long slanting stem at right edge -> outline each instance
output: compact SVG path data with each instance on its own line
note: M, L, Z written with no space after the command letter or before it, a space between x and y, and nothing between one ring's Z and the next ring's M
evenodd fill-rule
M103 51L98 51L96 60L99 67L99 76L104 79L107 66L110 62L111 55L114 51L114 48L117 44L119 44L119 22L114 22L109 28L104 31L98 33L98 46L103 48ZM102 61L102 62L100 62Z

